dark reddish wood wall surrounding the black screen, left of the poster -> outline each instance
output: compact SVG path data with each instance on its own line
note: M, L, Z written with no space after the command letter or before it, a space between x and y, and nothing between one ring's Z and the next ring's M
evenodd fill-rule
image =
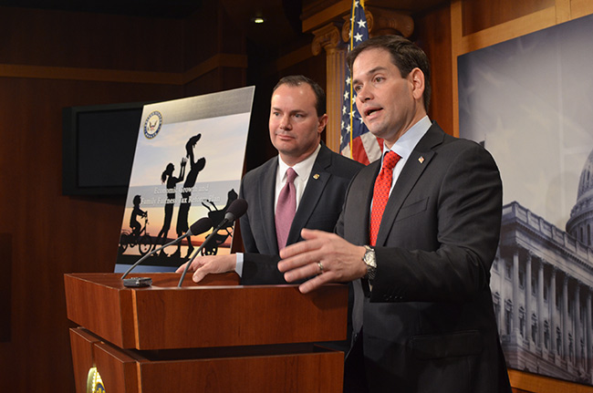
M0 368L0 379L10 384L5 391L42 391L50 380L57 391L71 391L71 364L56 361L69 359L61 274L111 272L117 254L123 197L61 195L61 109L179 93L179 87L0 78L0 137L7 142L0 155L10 157L3 171L14 179L0 181L8 200L0 206L0 231L12 233L19 261L13 264L12 345L1 347L14 367Z

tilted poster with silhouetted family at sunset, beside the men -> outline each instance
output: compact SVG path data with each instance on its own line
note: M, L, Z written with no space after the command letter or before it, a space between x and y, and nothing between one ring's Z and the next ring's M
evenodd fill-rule
M212 230L159 248L202 217L214 227L223 221L239 193L254 92L237 88L144 106L116 273L149 254L135 272L172 272ZM221 228L201 253L230 253L233 231L233 224Z

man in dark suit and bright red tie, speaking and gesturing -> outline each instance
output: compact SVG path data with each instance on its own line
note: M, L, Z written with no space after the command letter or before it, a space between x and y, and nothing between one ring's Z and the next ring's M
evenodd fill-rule
M491 155L427 117L428 58L400 36L349 54L359 113L384 140L336 233L304 230L278 264L307 293L353 281L346 391L510 392L489 288L502 182Z

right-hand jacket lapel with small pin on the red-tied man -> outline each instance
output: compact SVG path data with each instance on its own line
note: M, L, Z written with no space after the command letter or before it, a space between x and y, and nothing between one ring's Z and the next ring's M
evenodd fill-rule
M391 191L390 200L385 206L385 212L381 219L379 233L377 234L377 245L382 245L389 237L391 226L401 210L401 205L410 194L411 189L418 183L422 172L428 167L433 156L434 146L442 143L443 131L435 123L428 129L426 134L418 142L411 152L410 158L406 161L398 181Z

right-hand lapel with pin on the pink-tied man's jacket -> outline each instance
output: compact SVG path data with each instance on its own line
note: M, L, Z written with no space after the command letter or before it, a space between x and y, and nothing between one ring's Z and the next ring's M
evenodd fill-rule
M296 210L295 219L290 226L290 232L288 233L287 244L298 242L300 239L301 229L304 228L311 217L311 214L315 211L317 203L321 198L323 190L328 184L330 174L327 169L331 165L331 154L326 145L321 144L321 150L317 154L317 159L313 164L309 179L307 181L307 187L303 192L301 201L298 203L298 209Z

